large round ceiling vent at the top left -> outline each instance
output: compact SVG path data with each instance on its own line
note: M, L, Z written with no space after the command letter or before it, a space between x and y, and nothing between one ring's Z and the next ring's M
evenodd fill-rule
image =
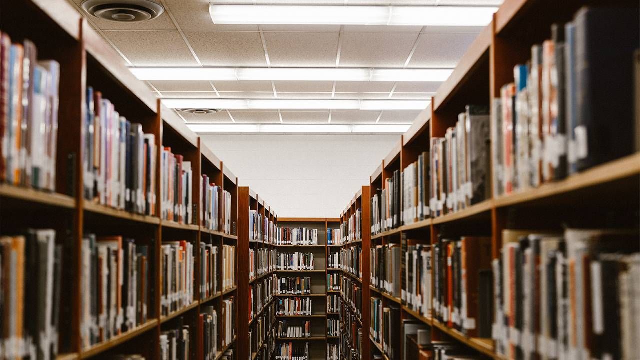
M100 19L118 22L156 19L164 12L161 4L151 0L86 0L82 8Z

